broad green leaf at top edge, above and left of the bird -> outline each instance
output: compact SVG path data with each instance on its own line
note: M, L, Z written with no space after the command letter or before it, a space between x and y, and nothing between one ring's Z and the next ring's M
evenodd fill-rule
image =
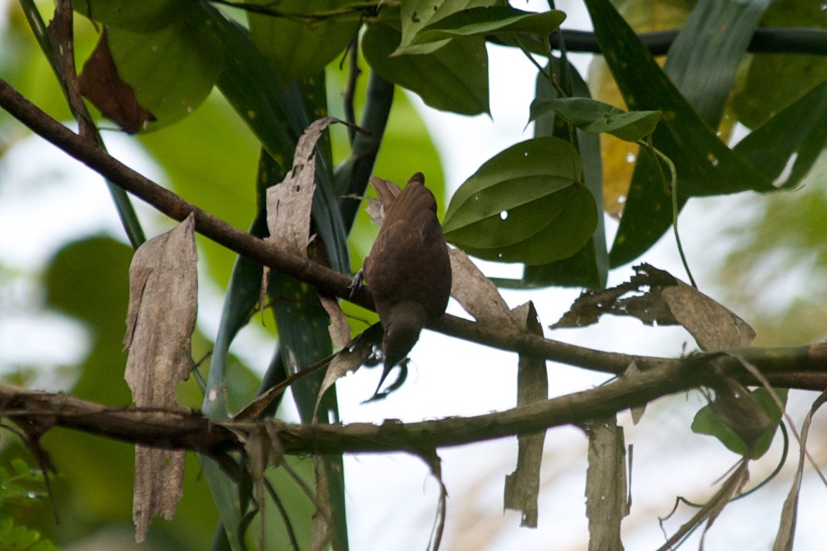
M270 0L256 0L270 6ZM280 12L313 14L347 7L348 0L282 0ZM360 24L358 12L318 21L296 21L287 17L247 12L250 36L273 62L280 83L314 77L342 53Z

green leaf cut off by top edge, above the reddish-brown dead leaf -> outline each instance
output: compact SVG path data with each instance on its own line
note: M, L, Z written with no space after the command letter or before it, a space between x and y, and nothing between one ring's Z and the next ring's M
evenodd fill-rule
M75 0L74 11L106 26L135 32L160 31L175 21L186 0Z

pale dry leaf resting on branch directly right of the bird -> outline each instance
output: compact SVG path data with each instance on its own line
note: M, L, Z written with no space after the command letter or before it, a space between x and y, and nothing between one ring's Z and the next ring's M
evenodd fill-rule
M497 286L485 277L465 251L448 247L448 256L451 258L451 296L460 306L480 323L504 324L519 330L520 324L514 321Z

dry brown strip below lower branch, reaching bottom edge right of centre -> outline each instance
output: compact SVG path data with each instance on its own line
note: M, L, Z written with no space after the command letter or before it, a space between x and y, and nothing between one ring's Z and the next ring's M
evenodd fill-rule
M589 518L589 551L624 549L620 541L620 521L627 514L623 427L611 417L595 420L588 433L586 516Z

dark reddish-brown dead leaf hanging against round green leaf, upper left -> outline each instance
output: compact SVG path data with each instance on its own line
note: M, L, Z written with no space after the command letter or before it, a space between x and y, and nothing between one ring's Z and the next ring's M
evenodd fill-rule
M132 87L117 76L106 30L84 63L79 84L80 93L98 107L103 116L117 122L130 134L141 131L147 122L155 121L155 116L138 103Z

